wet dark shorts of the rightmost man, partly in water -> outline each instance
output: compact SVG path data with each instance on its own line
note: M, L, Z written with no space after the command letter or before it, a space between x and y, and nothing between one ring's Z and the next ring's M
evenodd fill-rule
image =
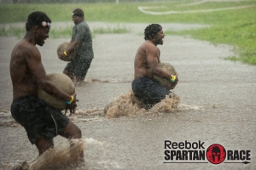
M149 77L140 77L131 83L133 93L138 99L141 99L146 105L154 105L159 103L161 99L165 99L170 91L160 84L157 80Z

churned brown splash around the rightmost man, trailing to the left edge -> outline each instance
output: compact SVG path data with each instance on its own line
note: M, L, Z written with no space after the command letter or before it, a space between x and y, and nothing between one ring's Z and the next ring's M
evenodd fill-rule
M215 108L213 105L212 108ZM187 105L181 103L181 99L177 94L166 95L166 99L162 99L159 103L154 105L151 109L146 110L145 105L133 94L130 90L126 94L119 94L118 97L112 99L104 108L91 108L84 110L77 110L75 114L69 116L72 122L89 122L101 121L102 118L117 118L120 116L135 116L158 114L164 112L174 111L202 111L203 107L198 105ZM15 122L10 112L0 112L0 126L21 127L19 123ZM64 113L64 111L62 111Z

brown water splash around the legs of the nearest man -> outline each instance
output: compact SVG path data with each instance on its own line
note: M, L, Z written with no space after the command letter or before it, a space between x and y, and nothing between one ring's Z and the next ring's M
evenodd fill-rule
M85 151L85 146L102 145L103 143L96 139L69 139L54 148L46 150L34 161L1 162L0 165L5 169L23 169L23 170L61 170L61 169L83 169L84 161L81 161L80 155ZM86 158L84 158L86 159Z

